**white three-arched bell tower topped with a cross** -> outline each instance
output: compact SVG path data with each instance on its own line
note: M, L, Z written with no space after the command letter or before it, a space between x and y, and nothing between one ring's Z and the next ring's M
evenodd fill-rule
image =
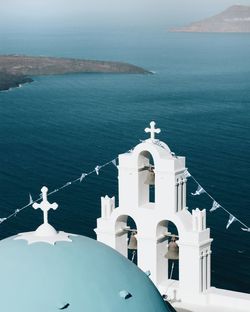
M102 216L95 229L97 239L128 257L128 217L136 224L137 264L169 298L193 301L210 288L210 230L206 211L190 213L186 207L185 157L175 156L155 139L160 129L150 123L150 138L133 151L119 155L119 206L102 198ZM150 184L154 186L150 187ZM169 222L178 230L179 280L168 276ZM201 295L201 296L200 296ZM205 299L204 299L205 300Z

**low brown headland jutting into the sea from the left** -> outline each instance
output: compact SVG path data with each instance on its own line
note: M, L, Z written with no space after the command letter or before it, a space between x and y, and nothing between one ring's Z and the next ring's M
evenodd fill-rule
M0 91L32 82L31 77L72 73L149 74L127 63L71 58L0 55Z

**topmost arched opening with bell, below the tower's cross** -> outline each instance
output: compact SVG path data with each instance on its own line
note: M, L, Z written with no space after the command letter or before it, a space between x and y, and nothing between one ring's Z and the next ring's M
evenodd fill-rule
M152 154L143 151L138 157L139 206L155 202L155 163Z

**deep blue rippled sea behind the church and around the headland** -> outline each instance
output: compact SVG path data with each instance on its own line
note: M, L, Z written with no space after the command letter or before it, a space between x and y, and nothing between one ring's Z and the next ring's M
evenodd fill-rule
M151 120L160 139L187 157L204 188L250 226L250 36L154 31L0 34L0 54L131 62L154 75L77 74L34 77L0 93L0 217L127 151ZM189 181L189 193L196 185ZM117 169L51 196L57 229L95 237L100 196L117 194ZM206 195L189 208L211 207ZM27 208L0 226L2 238L34 230L41 212ZM250 233L228 215L209 213L213 285L250 291Z

